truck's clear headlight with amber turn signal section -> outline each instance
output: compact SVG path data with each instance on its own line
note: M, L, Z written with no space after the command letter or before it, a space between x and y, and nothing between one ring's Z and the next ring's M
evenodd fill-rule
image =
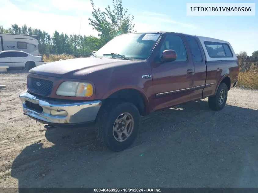
M60 84L56 95L90 97L93 95L93 86L86 82L66 81Z

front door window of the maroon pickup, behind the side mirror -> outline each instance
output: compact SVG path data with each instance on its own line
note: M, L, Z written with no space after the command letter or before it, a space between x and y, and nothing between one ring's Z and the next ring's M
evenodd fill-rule
M160 57L164 50L175 50L177 53L177 59L174 62L187 61L186 49L182 38L178 35L168 35L165 38L161 48Z

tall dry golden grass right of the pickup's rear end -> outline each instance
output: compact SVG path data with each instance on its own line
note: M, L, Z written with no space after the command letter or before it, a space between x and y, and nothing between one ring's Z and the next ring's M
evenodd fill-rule
M238 81L238 86L258 89L258 70L239 72Z

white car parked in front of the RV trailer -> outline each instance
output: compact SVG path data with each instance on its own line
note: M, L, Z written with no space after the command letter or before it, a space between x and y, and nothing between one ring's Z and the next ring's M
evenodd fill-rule
M25 67L30 70L44 63L41 56L34 56L27 52L11 50L0 52L0 66Z

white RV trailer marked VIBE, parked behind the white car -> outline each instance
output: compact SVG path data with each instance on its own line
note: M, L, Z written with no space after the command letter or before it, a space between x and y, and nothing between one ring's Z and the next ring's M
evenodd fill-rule
M0 52L6 50L24 51L38 56L38 36L0 33Z

